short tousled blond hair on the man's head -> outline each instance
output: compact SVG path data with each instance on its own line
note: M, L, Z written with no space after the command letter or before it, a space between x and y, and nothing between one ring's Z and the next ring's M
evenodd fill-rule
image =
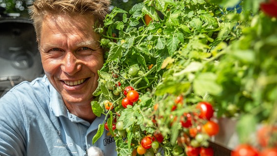
M41 24L47 15L69 16L92 15L95 23L102 25L109 13L110 0L35 0L29 7L37 39L40 39Z

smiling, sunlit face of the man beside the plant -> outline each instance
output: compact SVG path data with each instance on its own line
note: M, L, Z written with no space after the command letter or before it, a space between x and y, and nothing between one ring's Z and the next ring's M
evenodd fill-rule
M64 102L87 104L103 65L92 17L48 16L42 23L40 55L44 72Z

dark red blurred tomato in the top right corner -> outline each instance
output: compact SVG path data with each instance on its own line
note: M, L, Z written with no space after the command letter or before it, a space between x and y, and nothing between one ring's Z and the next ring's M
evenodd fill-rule
M268 16L277 17L277 0L260 3L260 9Z

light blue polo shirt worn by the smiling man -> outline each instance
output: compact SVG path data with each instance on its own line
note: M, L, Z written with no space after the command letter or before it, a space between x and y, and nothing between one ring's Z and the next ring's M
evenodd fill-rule
M46 76L21 82L0 98L0 156L87 156L91 146L117 156L106 130L92 144L103 121L90 124L71 114Z

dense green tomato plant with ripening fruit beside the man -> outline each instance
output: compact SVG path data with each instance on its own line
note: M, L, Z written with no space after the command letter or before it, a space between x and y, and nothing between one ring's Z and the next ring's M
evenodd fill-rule
M220 117L237 120L241 142L259 123L276 125L277 20L262 8L273 2L144 0L127 11L115 7L102 25L106 31L95 28L113 42L103 46L105 63L91 105L109 127L117 123L112 119L124 123L114 131L118 155L131 155L145 136L159 146L143 154L172 156L177 145L183 151L209 147ZM105 109L105 100L114 108Z

